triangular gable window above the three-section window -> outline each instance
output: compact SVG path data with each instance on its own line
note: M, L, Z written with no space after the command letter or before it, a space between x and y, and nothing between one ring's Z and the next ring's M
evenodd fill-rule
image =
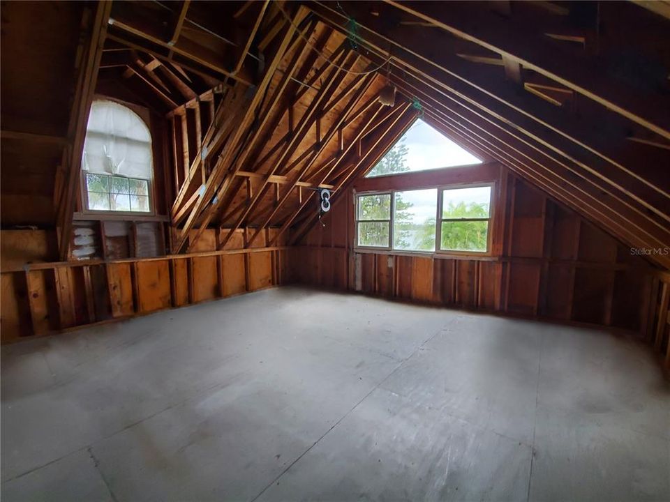
M482 160L462 146L452 142L421 119L417 119L365 177L481 163Z

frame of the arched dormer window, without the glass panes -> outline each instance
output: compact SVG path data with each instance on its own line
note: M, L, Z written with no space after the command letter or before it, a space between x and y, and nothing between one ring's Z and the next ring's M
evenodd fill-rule
M133 116L136 120L134 121L137 126L142 126L144 131L146 132L147 135L147 144L149 146L149 169L145 169L146 173L143 176L133 176L133 175L128 175L125 174L124 172L101 172L100 169L97 170L97 172L91 172L89 171L88 162L87 162L87 142L84 142L84 152L82 153L82 175L80 176L80 188L81 188L81 194L82 194L82 212L84 213L89 213L89 214L99 214L99 215L104 215L104 214L111 214L111 215L133 215L135 217L140 217L140 216L153 216L156 215L155 211L155 197L154 197L154 148L153 148L153 138L151 137L151 128L149 127L149 121L148 117L144 118L142 114L138 113L135 109L133 109L132 105L128 105L125 102L119 102L117 100L112 100L109 98L97 98L94 100L93 105L91 105L91 115L94 112L94 107L96 105L111 105L111 107L119 107L124 109L124 111L129 112L128 116ZM91 132L89 129L89 126L91 126L91 117L89 116L89 124L87 125L87 140L89 139L89 133ZM121 138L124 138L124 136L119 136ZM129 141L133 141L132 139L129 139ZM114 163L114 162L110 162ZM109 208L91 208L91 201L89 200L89 192L94 192L93 190L89 190L89 180L91 174L94 174L96 176L105 176L107 178L107 195L110 197L110 204ZM114 181L117 183L114 184L116 188L112 187L112 178L115 178ZM126 192L127 188L127 194L122 193L119 194L118 192L114 192L114 190L119 189L119 181L121 180L127 180L128 183L125 186L122 186L121 189L119 190L120 192ZM144 185L145 182L146 184ZM120 183L121 185L124 185L123 181ZM146 196L141 195L141 197L146 197L147 198L147 211L142 211L139 209L132 210L131 209L131 197L133 195L137 194L131 194L131 190L133 185L138 188L142 188L142 190L146 190ZM112 199L111 197L113 195L116 195L117 198L119 196L123 197L124 195L128 195L128 208L121 208L121 209L114 209L112 208ZM140 199L140 197L136 197L137 199Z

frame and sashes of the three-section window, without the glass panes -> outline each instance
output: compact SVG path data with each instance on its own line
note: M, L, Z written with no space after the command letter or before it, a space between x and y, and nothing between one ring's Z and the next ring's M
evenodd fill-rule
M442 205L444 202L444 192L445 190L457 190L459 188L477 188L477 187L490 187L489 192L489 217L488 218L442 218ZM437 188L438 197L437 204L435 207L435 248L431 251L421 251L421 250L401 250L394 249L394 213L395 213L395 199L396 192L411 192L413 190L426 190L429 188ZM373 191L373 192L361 192L355 194L355 234L354 234L354 248L362 250L389 250L404 254L456 254L456 255L475 255L475 256L486 256L491 254L491 222L495 216L496 208L494 207L494 190L495 181L489 183L472 183L472 184L463 184L463 185L438 185L435 187L421 187L421 188L403 188L400 190L382 190L382 191ZM391 197L391 211L390 217L385 220L360 220L359 219L359 204L360 198L368 195L390 195ZM442 224L445 222L477 222L484 221L486 222L486 249L483 251L474 251L474 250L456 250L456 249L442 249ZM389 224L389 242L387 246L373 246L373 245L359 245L359 223L364 222L384 222Z

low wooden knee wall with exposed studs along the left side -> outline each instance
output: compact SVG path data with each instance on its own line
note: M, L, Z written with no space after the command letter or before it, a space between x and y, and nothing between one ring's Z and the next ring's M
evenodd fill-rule
M209 235L214 240L204 238L199 241L201 245L214 245L216 231ZM244 237L241 232L237 235ZM266 238L260 240L266 241ZM292 280L289 269L296 262L293 252L289 248L209 250L155 258L47 262L3 268L0 340L14 342L22 337L286 284ZM318 259L310 259L309 263L318 264ZM347 261L345 251L332 253L328 273L334 285L346 287ZM4 261L1 263L6 265ZM311 275L309 268L306 271Z

